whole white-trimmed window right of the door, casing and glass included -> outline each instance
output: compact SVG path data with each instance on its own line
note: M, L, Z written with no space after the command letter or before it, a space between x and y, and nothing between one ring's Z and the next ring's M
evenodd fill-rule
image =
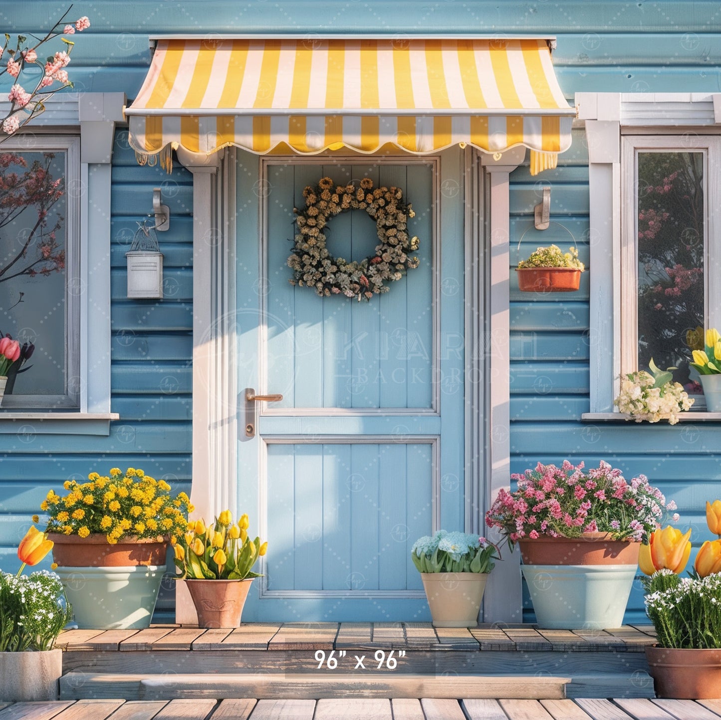
M688 361L698 328L721 328L721 94L580 92L575 103L588 147L594 350L582 417L619 419L619 375L653 357L696 395L685 419L718 420Z

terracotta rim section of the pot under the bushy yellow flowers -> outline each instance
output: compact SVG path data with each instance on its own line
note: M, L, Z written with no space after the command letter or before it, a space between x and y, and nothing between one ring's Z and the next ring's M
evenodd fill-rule
M94 533L87 538L78 535L48 533L52 540L53 560L61 567L129 567L166 563L167 539L125 537L110 545L105 535Z

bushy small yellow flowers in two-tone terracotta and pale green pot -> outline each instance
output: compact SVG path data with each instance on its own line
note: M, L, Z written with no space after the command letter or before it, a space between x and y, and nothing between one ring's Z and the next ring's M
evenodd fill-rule
M40 505L79 628L146 628L166 572L168 543L193 511L185 492L141 469L66 480ZM78 583L78 574L84 582Z

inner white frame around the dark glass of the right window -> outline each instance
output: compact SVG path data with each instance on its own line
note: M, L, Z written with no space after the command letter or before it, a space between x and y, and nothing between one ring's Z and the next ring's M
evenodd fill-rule
M702 152L704 154L704 329L721 325L721 283L712 272L721 262L720 223L712 208L721 207L721 188L712 168L721 169L721 138L715 135L624 135L622 137L621 233L621 373L638 367L638 154L639 152ZM629 311L629 308L634 308ZM689 353L690 360L690 353ZM617 394L618 381L614 384ZM706 408L703 396L691 412Z

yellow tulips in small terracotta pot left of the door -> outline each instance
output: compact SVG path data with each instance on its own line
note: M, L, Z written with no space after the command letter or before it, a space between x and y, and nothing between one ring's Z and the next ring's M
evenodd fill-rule
M203 520L188 525L174 546L178 579L187 582L201 628L236 628L240 625L250 585L260 573L252 567L265 555L267 543L251 540L249 518L233 523L224 510L206 526Z

